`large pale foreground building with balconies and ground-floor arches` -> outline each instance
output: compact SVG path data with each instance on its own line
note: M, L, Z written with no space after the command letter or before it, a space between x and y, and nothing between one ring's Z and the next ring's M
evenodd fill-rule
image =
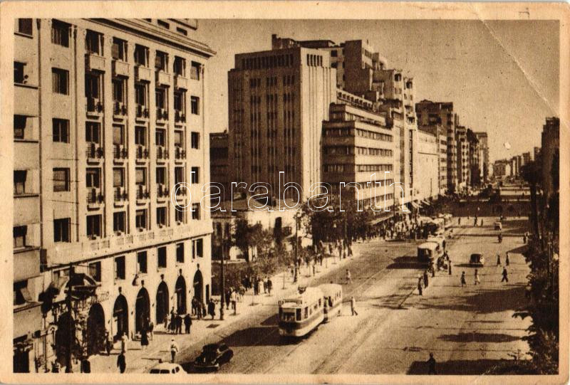
M47 366L52 345L66 350L71 281L95 290L76 304L83 354L101 348L105 329L135 337L170 307L185 313L192 296L209 297L212 223L194 187L209 179L214 52L196 29L190 19L16 21L15 371ZM171 194L181 182L192 196Z

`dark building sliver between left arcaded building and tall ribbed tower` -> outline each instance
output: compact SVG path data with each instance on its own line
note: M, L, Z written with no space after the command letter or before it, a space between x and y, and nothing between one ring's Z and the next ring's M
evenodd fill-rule
M209 174L212 183L222 184L222 200L230 199L229 191L229 138L227 132L212 132L209 135ZM215 191L212 191L214 194Z

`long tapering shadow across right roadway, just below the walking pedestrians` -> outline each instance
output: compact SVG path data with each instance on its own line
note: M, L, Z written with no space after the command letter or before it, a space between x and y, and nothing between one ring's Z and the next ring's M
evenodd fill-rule
M518 310L526 304L524 285L512 284L505 288L484 289L474 295L432 298L419 302L416 308L465 311L479 314Z

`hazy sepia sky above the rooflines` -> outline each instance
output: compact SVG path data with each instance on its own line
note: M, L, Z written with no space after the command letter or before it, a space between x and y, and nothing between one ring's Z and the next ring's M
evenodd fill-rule
M414 78L415 100L453 102L460 124L489 135L489 157L540 146L544 120L559 116L558 21L200 19L208 60L209 126L227 129L227 73L237 53L271 49L271 34L341 43L368 40ZM507 145L505 145L507 144Z

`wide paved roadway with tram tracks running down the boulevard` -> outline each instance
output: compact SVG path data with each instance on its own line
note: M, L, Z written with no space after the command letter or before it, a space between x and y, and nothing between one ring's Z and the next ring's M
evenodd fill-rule
M425 374L425 360L433 352L440 374L481 374L499 359L527 351L524 336L528 321L512 318L524 301L528 268L520 252L526 221L507 221L504 241L497 243L493 219L487 226L455 228L447 248L452 275L436 274L419 296L415 289L420 268L415 263L416 243L360 243L359 258L348 264L353 283L343 289L354 295L358 316L343 314L321 325L308 337L284 341L277 328L277 306L263 306L247 320L212 334L208 342L223 340L234 349L234 359L220 373L239 374ZM470 223L464 218L462 223ZM518 250L517 250L518 249ZM510 255L509 283L501 283L502 267L496 255ZM487 256L475 286L470 253ZM517 253L518 252L518 253ZM467 287L460 285L466 272ZM314 282L343 283L345 270ZM182 352L182 362L197 356L197 347ZM191 369L190 365L184 365Z

